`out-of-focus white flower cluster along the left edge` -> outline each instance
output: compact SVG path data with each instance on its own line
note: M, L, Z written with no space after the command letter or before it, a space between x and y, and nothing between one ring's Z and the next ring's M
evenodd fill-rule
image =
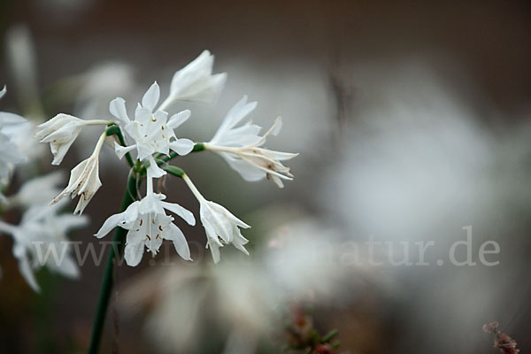
M0 91L4 96L6 89ZM16 114L0 112L0 179L7 185L15 165L32 158L24 151L31 150L27 131L32 124ZM18 225L0 219L0 233L13 239L13 256L19 261L19 272L27 284L39 291L35 271L46 266L50 271L65 277L76 278L79 269L72 256L72 245L66 234L70 229L82 227L88 219L60 214L64 203L48 205L50 198L58 193L56 186L63 180L62 173L49 173L25 182L11 196L0 194L0 209L18 208L24 213ZM53 254L50 254L53 253Z

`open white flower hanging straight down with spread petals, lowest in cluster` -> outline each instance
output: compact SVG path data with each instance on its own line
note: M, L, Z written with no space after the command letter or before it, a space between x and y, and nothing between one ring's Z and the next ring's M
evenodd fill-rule
M106 219L96 237L104 237L114 227L129 230L124 250L128 266L137 266L140 263L144 248L147 248L154 257L160 249L162 240L172 241L179 256L191 260L186 238L181 229L173 224L173 217L165 214L165 210L175 213L192 226L196 225L194 215L179 204L164 202L164 195L153 193L153 181L150 177L147 183L146 196L130 204L125 212Z

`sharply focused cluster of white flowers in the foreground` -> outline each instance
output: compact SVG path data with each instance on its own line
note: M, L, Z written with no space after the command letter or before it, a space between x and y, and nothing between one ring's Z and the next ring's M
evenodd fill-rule
M208 50L204 50L189 65L174 73L169 95L161 104L158 104L160 88L155 81L137 104L134 115L128 114L126 101L117 97L109 105L112 119L85 120L61 113L39 126L35 134L41 142L50 143L50 150L54 155L52 164L58 165L83 127L105 126L94 152L73 168L68 185L52 201L55 204L64 196L79 196L74 213L81 214L102 185L98 175L98 157L105 140L113 139L117 157L126 157L132 171L130 178L134 178L137 184L145 178L144 196L108 218L96 233L96 237L100 238L114 227L127 230L124 253L129 266L138 265L146 250L155 256L163 240L172 241L181 258L191 259L188 242L174 223L172 214L191 226L196 224L194 215L179 204L166 202L165 195L153 189L154 180L167 173L181 177L196 196L200 205L199 216L207 237L206 247L212 251L214 262L219 262L219 248L227 244L249 254L244 247L248 240L243 237L241 228L250 226L225 207L204 198L184 171L169 165L173 158L185 156L192 151L212 150L225 158L247 181L267 178L283 187L282 180L293 179L289 168L282 165L281 161L294 158L297 154L264 147L266 138L277 135L280 131L281 119L276 119L273 127L264 135L259 135L261 127L250 121L239 125L257 105L256 102L248 103L246 96L227 113L210 142L193 142L178 137L176 129L190 118L191 112L171 112L175 103L213 103L225 85L227 75L212 73L213 62L214 57Z

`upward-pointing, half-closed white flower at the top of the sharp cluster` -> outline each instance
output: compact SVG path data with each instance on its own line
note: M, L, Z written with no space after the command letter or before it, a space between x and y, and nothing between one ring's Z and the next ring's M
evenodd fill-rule
M212 75L214 56L204 50L199 57L173 74L170 95L161 104L166 109L175 101L214 102L227 81L226 73Z

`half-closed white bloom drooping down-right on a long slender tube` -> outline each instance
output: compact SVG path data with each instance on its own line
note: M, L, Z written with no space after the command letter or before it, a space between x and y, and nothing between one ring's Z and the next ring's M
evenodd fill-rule
M223 247L224 244L233 244L236 249L249 255L249 252L243 247L249 240L242 236L238 227L249 228L250 226L236 218L225 207L206 200L196 189L189 176L185 174L182 178L199 202L199 215L207 236L206 247L210 248L214 263L219 262L219 247Z

